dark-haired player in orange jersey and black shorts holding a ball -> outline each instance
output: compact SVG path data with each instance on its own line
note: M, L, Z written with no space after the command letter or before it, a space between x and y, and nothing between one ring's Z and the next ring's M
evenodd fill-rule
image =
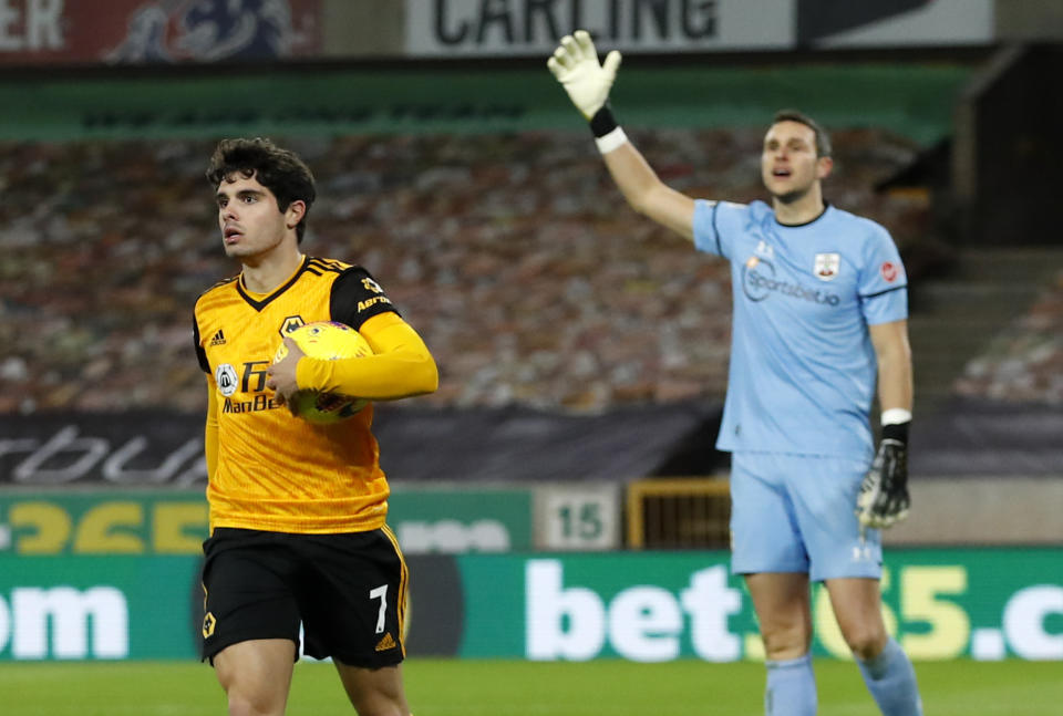
M227 139L207 179L225 252L241 271L195 309L209 396L203 657L230 715L282 714L301 624L303 651L332 657L361 716L409 716L407 574L385 525L372 404L311 425L286 403L299 390L372 401L431 393L435 362L369 272L300 251L316 193L298 156L268 139ZM306 356L286 334L313 321L354 328L373 355ZM272 364L281 341L288 355Z

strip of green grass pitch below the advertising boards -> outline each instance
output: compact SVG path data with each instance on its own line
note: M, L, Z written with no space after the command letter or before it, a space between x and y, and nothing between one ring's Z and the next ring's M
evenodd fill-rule
M414 658L405 666L416 716L761 716L763 666L680 661L529 663ZM1059 662L916 664L928 716L1059 716ZM816 663L821 716L877 716L850 663ZM3 663L4 716L208 716L226 712L209 666ZM329 664L300 663L289 716L353 714Z

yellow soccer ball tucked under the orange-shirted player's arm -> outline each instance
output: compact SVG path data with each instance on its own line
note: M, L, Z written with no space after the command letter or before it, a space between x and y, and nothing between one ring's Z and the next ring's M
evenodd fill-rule
M349 325L336 321L307 323L288 334L303 353L313 359L336 361L338 359L365 357L373 349L362 334ZM281 343L274 355L274 363L288 355L288 347ZM329 425L347 419L369 405L369 401L322 393L320 391L299 391L290 401L292 412L314 425Z

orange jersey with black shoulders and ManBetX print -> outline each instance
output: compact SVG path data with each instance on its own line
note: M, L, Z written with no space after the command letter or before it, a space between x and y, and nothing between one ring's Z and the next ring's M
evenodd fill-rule
M211 421L217 425L207 486L211 530L326 533L383 526L389 488L370 430L372 404L345 421L311 425L274 399L266 371L285 334L305 323L359 329L386 312L396 311L368 271L311 257L268 295L250 294L236 277L199 297L196 353L214 391L208 430Z

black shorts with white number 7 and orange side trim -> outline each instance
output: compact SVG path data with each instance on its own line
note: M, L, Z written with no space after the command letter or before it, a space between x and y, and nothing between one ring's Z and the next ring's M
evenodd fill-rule
M290 639L299 656L379 668L400 663L406 563L386 527L290 535L221 527L203 543L203 658L255 639Z

